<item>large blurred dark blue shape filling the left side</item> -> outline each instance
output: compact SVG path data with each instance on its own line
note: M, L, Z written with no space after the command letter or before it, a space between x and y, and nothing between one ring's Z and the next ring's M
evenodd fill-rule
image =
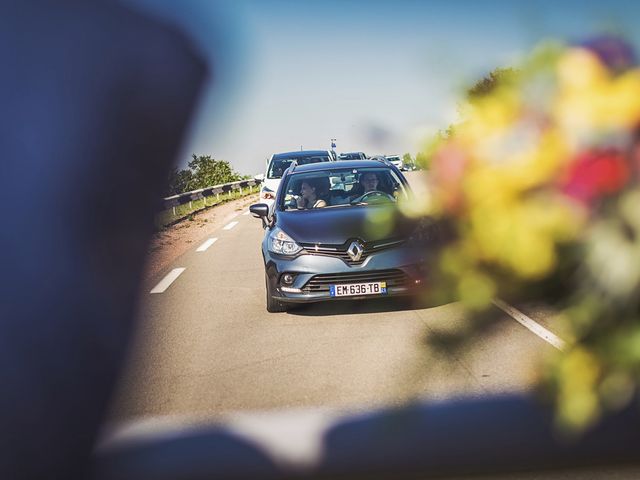
M112 1L0 4L0 478L84 474L207 68Z

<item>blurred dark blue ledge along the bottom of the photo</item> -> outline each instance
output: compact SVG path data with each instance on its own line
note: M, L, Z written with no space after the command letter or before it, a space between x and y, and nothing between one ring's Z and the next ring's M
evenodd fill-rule
M296 415L304 424L301 413ZM313 418L312 411L308 415ZM318 458L300 464L282 457L270 463L273 450L264 436L242 441L231 421L208 430L180 427L155 437L123 436L100 450L94 478L400 480L527 471L547 478L545 470L637 464L639 424L634 403L584 435L563 437L551 410L530 396L430 402L327 420ZM301 438L292 435L288 441L293 445ZM552 478L583 476L564 472Z

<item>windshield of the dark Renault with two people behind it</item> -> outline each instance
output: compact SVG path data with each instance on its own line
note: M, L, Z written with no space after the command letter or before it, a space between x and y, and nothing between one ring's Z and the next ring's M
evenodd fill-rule
M396 203L408 190L390 168L327 169L288 176L278 203L284 211ZM307 193L308 192L308 193Z

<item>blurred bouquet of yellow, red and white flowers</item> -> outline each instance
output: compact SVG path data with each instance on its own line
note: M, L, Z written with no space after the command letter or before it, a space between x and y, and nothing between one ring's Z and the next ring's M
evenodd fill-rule
M568 345L544 384L561 425L585 427L640 381L640 68L615 38L545 45L461 116L431 148L428 209L449 232L434 286L472 317L557 302Z

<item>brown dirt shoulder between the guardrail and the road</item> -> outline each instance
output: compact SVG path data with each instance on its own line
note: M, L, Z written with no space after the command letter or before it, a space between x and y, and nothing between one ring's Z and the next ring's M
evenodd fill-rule
M256 203L258 194L248 195L196 213L193 220L182 222L156 233L147 253L145 280L151 280L171 263L207 236L226 225L249 205Z

